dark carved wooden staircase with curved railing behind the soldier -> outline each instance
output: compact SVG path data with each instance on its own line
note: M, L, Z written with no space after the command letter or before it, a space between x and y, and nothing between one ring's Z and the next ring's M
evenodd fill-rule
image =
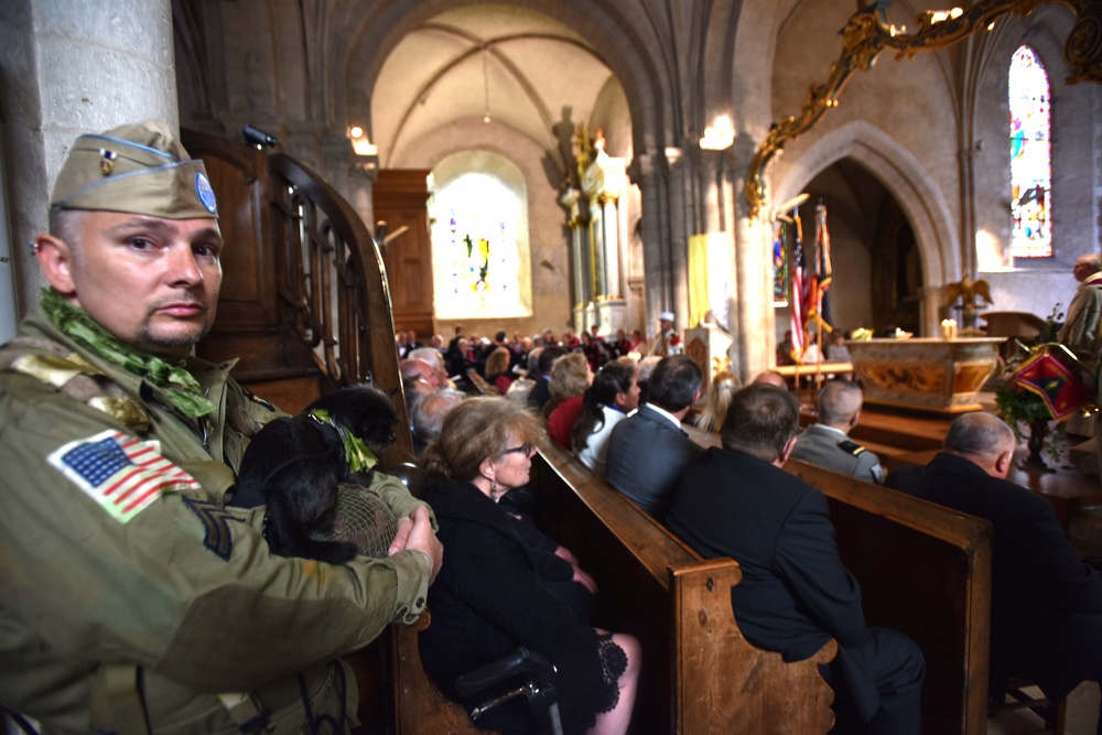
M398 404L393 465L413 457L386 270L355 209L283 153L184 130L218 197L226 240L215 326L198 346L212 361L288 412L371 380Z

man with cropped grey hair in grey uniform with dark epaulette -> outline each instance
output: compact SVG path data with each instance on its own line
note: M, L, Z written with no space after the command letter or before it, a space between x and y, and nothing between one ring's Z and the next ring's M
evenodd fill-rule
M819 421L796 440L792 458L883 484L885 474L879 457L849 436L864 404L861 387L850 380L831 380L819 391L815 403Z

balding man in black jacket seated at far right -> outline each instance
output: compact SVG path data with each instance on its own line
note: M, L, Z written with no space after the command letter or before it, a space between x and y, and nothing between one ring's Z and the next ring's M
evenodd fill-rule
M1052 505L1004 479L1014 446L1001 420L965 413L930 464L893 469L887 486L992 522L991 693L1002 701L1018 675L1060 699L1102 678L1102 579L1076 555Z

